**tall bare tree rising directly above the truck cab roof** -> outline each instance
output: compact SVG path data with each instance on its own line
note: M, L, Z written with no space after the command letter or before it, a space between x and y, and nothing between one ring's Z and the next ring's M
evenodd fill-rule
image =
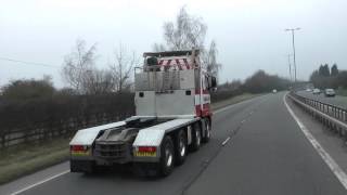
M164 24L164 38L170 50L203 48L207 26L201 17L189 15L185 6L177 15L176 24Z

